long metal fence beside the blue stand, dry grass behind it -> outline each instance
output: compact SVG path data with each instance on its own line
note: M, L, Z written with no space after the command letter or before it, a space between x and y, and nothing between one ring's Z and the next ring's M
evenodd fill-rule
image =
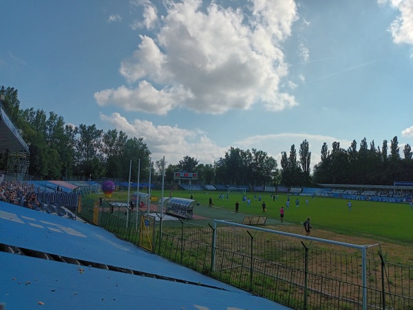
M223 220L200 226L87 199L78 214L154 254L293 309L413 310L413 267L385 262L380 245Z

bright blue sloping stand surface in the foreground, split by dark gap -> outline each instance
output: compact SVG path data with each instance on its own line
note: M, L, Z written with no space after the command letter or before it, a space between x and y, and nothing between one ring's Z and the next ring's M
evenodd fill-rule
M94 225L0 202L0 227L6 309L289 309Z

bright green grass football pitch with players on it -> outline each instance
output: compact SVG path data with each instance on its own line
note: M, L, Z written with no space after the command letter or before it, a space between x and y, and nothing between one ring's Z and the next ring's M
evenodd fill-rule
M235 210L235 202L240 203L240 213L262 216L262 203L266 203L268 218L279 220L279 209L284 206L284 222L301 225L308 217L311 218L313 229L324 229L339 234L350 236L363 236L377 241L413 242L413 209L407 203L379 203L365 200L350 200L352 209L349 211L348 200L340 198L290 196L290 207L286 209L286 194L279 194L273 201L269 193L247 193L251 199L251 205L242 203L242 194L230 194L226 199L226 193L222 192L181 192L173 191L174 197L190 198L198 200L200 206L208 207L209 197L213 199L214 207ZM224 199L218 196L224 194ZM151 192L151 196L160 197L160 191ZM169 196L169 192L164 193ZM259 201L259 196L262 196ZM254 200L255 196L255 200ZM295 200L299 199L299 207L295 207Z

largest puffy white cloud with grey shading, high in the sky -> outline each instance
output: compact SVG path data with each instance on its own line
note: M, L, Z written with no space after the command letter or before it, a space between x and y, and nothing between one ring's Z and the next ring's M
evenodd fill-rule
M142 23L153 28L156 8L134 3L144 6ZM293 0L253 0L249 12L215 2L201 9L200 0L165 3L156 33L141 35L138 49L120 65L129 85L97 92L99 105L154 114L176 107L221 114L254 104L270 111L297 105L279 90L288 76L282 42L297 20Z

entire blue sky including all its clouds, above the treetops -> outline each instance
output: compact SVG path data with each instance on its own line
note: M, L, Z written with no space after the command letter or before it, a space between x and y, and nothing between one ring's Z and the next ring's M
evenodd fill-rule
M413 1L1 1L21 108L144 138L153 160L413 145Z

